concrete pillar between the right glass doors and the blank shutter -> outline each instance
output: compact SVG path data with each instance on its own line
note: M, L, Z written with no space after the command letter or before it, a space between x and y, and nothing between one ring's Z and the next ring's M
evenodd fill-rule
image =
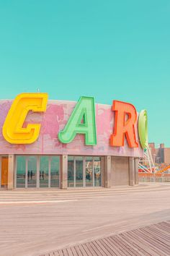
M111 156L104 156L104 186L111 187Z

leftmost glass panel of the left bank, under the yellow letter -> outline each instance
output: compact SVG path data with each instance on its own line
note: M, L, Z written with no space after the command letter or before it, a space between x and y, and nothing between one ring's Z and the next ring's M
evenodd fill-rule
M17 155L17 187L25 187L26 156Z

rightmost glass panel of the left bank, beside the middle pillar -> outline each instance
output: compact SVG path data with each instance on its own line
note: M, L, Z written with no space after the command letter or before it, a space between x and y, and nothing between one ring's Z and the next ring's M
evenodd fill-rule
M50 187L59 187L60 156L51 156L50 161Z

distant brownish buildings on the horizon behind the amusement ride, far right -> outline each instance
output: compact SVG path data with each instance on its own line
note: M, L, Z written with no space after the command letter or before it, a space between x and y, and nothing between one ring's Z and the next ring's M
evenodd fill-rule
M164 143L161 143L159 148L156 148L155 143L151 142L149 143L149 148L154 163L170 164L170 148L165 148Z

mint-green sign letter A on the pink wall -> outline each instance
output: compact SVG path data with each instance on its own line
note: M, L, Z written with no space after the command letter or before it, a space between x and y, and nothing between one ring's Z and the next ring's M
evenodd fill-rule
M86 145L97 145L94 98L79 98L63 131L58 133L62 143L71 142L76 134L85 135Z

